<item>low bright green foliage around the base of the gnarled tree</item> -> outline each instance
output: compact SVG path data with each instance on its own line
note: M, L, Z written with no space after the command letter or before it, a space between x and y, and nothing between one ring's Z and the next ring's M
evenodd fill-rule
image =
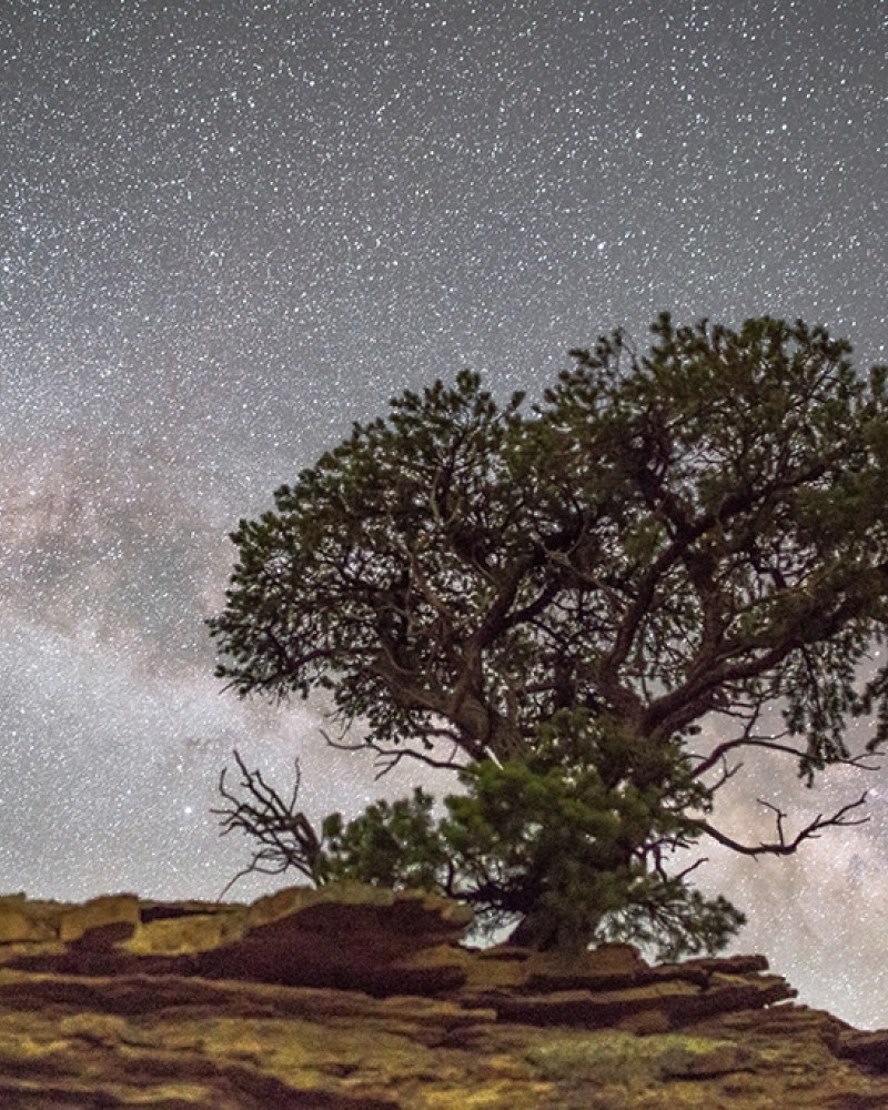
M561 764L549 749L532 764L466 767L465 793L444 799L438 820L418 788L347 825L335 814L323 826L324 875L460 898L476 908L482 935L517 926L514 939L536 948L630 939L660 959L724 948L743 916L680 878L648 872L640 850L693 835L683 810L694 797L705 804L700 787L685 776L668 799L662 786L648 797L630 784L607 789L585 755Z

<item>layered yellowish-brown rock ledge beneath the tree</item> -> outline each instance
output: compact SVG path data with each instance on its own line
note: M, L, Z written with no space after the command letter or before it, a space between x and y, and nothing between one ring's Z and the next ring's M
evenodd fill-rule
M652 967L461 946L357 886L252 906L0 897L0 1106L24 1110L888 1107L888 1032L760 956Z

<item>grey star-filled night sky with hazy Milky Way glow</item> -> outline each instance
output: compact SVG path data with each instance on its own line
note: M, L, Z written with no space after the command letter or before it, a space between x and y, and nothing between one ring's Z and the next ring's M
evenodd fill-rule
M404 387L538 394L660 309L888 360L887 49L884 0L4 0L0 891L215 897L235 746L312 815L406 791L322 705L222 695L203 627L238 519ZM750 767L724 824L864 786L868 826L702 881L888 1026L885 773Z

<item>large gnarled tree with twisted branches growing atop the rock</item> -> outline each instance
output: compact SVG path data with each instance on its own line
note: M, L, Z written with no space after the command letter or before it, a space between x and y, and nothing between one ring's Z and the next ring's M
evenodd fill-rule
M743 844L713 816L733 760L810 785L862 766L850 718L888 735L888 371L800 321L652 331L573 351L529 413L468 371L405 392L241 522L211 622L241 695L326 690L330 743L453 768L436 884L544 947L723 945L739 915L669 852L787 855L864 803ZM336 866L367 815L327 828Z

